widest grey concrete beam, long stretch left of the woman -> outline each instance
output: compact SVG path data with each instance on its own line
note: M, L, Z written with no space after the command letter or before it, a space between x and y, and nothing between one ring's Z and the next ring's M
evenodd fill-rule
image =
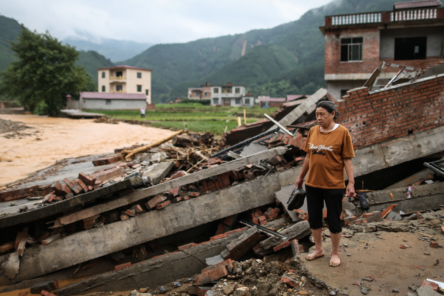
M299 170L300 167L291 168L218 192L204 194L187 202L172 204L161 211L150 211L125 221L110 223L106 227L73 233L48 245L33 246L30 248L33 252L25 253L20 263L20 270L26 270L26 273L19 272L10 284L270 204L273 202L274 192L289 184L289 180L293 180ZM178 182L188 176L170 182ZM205 215L196 215L196 213L205 213ZM152 225L157 226L152 227ZM150 231L143 229L150 229ZM73 245L79 245L79 248L73 249ZM70 251L61 252L60 250ZM31 257L29 253L33 253L34 257ZM3 255L0 260L8 261L9 256L9 254ZM204 261L205 258L202 260Z

